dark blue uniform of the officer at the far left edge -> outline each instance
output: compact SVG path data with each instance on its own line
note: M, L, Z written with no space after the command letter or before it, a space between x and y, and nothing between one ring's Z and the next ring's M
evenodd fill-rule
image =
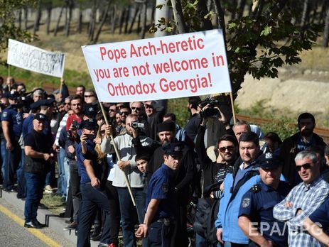
M2 112L1 121L9 122L9 136L13 147L12 150L6 150L4 169L4 189L12 190L15 183L14 174L21 160L21 146L18 140L22 133L23 114L18 113L16 106L10 105Z

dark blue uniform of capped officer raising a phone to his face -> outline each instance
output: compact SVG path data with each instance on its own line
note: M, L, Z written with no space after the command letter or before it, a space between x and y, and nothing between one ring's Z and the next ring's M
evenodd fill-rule
M85 141L87 154L83 155L81 150L81 143L75 145L77 155L77 167L79 170L80 191L82 194L82 204L79 208L78 224L77 224L77 247L90 246L90 226L95 217L97 208L104 210L105 219L104 227L102 230L102 238L100 243L109 243L110 234L110 214L109 214L109 200L106 194L102 192L101 187L92 187L90 177L87 175L87 170L83 161L85 159L92 160L92 168L94 169L95 176L100 180L102 173L102 165L95 162L96 158L90 157L90 153L95 153L95 144L92 140Z

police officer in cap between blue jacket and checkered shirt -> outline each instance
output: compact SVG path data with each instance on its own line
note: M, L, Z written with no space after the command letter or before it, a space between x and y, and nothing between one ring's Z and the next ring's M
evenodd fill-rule
M284 222L273 217L273 207L281 202L290 187L280 181L282 163L266 153L259 163L261 181L242 197L239 227L252 243L249 246L288 246Z

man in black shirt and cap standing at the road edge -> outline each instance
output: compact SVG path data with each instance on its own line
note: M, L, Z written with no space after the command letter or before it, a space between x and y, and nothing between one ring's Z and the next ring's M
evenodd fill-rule
M43 133L45 128L44 114L36 114L33 117L33 131L24 139L26 165L24 175L26 178L25 224L28 228L41 228L36 219L38 206L43 197L45 174L49 169L50 160L53 158L52 138Z

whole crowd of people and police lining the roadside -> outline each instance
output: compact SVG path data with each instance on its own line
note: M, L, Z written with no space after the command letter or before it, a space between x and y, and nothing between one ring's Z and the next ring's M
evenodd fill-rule
M119 246L120 229L124 246L190 246L189 226L195 246L329 246L329 148L312 114L281 141L212 99L189 97L182 128L159 101L102 111L92 89L60 83L26 92L0 77L1 183L25 199L25 227L45 227L46 192L79 247Z

